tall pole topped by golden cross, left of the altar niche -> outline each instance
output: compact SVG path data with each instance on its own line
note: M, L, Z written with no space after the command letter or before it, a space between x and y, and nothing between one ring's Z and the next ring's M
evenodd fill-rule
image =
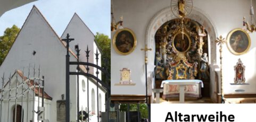
M147 114L148 114L148 120L151 121L150 117L150 103L147 102L147 51L151 51L151 48L147 48L147 45L145 45L144 49L141 49L142 51L145 51L145 76L146 76L146 103L147 103Z

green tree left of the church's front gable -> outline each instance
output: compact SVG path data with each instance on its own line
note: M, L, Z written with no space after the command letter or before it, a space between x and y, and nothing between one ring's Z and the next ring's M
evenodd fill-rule
M4 35L0 37L0 65L4 62L19 32L20 29L16 25L13 25L12 28L5 29Z

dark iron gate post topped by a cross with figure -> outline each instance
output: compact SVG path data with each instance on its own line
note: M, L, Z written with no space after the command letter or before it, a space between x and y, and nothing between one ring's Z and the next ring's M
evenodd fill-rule
M72 38L69 38L69 33L67 34L66 39L62 39L62 41L65 41L67 43L67 55L66 55L66 121L70 121L70 95L69 95L69 42L75 40Z

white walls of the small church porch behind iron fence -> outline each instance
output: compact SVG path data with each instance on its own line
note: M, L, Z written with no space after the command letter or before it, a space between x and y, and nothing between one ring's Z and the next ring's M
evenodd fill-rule
M11 79L11 85L10 85L10 88L13 89L16 87L16 74L13 75L12 79ZM18 85L21 84L22 82L22 78L17 75L18 77ZM9 82L10 83L10 82ZM9 90L9 83L5 86L4 90ZM28 89L28 85L27 84L24 84L23 86L21 85L19 87L19 89L17 89L17 95L16 96L19 96L22 94L22 88L24 88L23 91L27 90ZM15 97L15 92L16 90L12 90L10 92L10 98L13 98ZM2 93L1 93L2 94ZM4 99L7 99L9 98L9 92L3 92L3 95L4 95ZM33 110L33 104L34 104L34 107L35 107L35 111L38 111L37 110L37 107L38 107L38 97L35 96L35 103L33 103L34 99L33 99L33 95L34 95L34 91L33 90L29 90L29 100L28 100L28 92L25 93L23 95L23 101L22 101L22 97L19 97L16 101L15 99L11 99L10 102L8 102L8 100L4 100L3 103L2 103L2 117L1 117L1 120L0 121L13 121L13 117L15 116L13 113L14 109L15 109L15 103L16 105L20 105L22 106L22 110L23 110L23 120L24 121L29 121L29 120L32 120L32 110ZM44 99L44 107L45 107L45 120L51 120L51 104L52 104L52 101L51 100L48 100L48 99ZM39 99L39 106L42 106L42 98ZM34 120L37 120L37 114L34 113Z

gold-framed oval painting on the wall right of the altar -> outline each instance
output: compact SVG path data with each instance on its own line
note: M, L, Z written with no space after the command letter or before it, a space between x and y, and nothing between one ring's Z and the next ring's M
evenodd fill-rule
M251 38L243 29L234 29L227 36L228 50L234 55L242 55L246 53L251 46Z

